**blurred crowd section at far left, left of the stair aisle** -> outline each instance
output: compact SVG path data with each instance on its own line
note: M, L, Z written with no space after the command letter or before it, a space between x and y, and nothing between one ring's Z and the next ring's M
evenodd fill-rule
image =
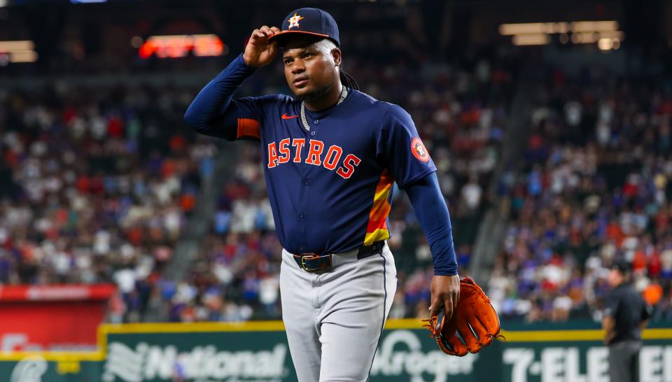
M0 285L118 285L139 320L211 176L181 126L190 94L151 87L0 92Z

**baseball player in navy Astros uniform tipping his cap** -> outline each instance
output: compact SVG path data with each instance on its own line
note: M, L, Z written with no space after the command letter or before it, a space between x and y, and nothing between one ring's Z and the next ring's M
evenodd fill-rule
M430 315L451 316L460 281L436 167L408 113L358 91L329 13L293 10L263 26L211 80L185 120L260 143L279 241L283 322L299 381L366 381L396 290L386 244L392 183L405 190L433 254ZM294 97L233 99L281 57Z

